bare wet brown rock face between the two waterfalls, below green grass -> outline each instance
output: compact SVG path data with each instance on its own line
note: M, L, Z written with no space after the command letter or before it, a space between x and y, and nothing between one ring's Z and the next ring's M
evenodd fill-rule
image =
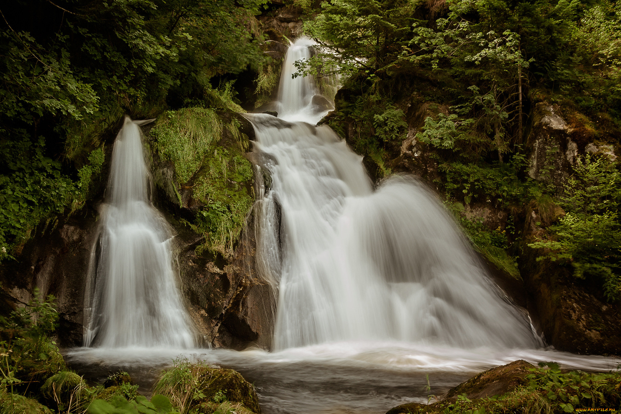
M270 348L275 297L254 269L253 215L248 217L232 261L196 254L201 236L173 221L178 231L177 257L181 290L206 343L216 347Z

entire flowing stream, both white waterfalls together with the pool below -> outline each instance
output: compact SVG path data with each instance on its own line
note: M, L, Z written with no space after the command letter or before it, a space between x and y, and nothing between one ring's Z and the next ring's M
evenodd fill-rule
M271 176L255 212L256 269L278 292L273 351L193 348L170 231L148 202L140 131L126 119L93 253L85 344L96 348L68 351L70 365L91 379L129 371L148 394L177 356L202 359L242 372L265 414L381 414L515 359L614 369L543 348L423 184L396 176L373 189L361 157L315 126L327 111L314 79L292 79L311 44L289 48L279 116L247 115Z

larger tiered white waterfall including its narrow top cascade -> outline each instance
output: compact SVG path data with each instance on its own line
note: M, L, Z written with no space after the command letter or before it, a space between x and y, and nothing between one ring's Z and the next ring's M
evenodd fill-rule
M284 60L284 120L248 115L255 150L269 155L257 252L278 284L274 349L352 340L540 346L437 197L408 176L374 191L361 157L311 125L324 115L311 104L314 79L291 79L310 44L298 40Z

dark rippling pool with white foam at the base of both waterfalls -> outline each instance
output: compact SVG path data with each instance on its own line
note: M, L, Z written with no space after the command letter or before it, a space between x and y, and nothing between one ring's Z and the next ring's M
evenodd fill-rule
M129 372L150 395L162 369L176 358L239 371L256 387L263 414L383 414L407 402L426 403L494 366L525 359L567 369L609 371L619 360L553 350L458 349L400 342L349 341L269 353L261 349L74 348L68 365L99 381ZM430 390L426 390L427 376Z

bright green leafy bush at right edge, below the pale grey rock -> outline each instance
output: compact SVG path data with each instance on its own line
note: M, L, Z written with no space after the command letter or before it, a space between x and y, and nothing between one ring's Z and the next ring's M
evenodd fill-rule
M574 174L558 204L566 214L548 227L551 238L528 246L545 249L553 261L571 263L574 276L599 283L609 300L621 299L621 175L617 163L586 155L576 160Z

